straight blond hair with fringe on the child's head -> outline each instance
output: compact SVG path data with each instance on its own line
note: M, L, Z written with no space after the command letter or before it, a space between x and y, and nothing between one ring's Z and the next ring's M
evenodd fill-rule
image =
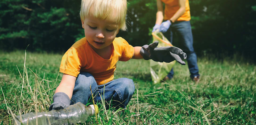
M101 20L110 20L119 24L119 28L126 30L126 0L82 0L80 18L84 20L90 15Z

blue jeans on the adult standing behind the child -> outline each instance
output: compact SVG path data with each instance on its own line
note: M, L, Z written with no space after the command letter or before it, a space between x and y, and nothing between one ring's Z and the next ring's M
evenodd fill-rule
M199 75L199 69L197 66L197 57L193 48L193 36L190 21L180 21L174 22L170 26L170 42L173 41L173 33L175 32L179 38L179 42L184 45L182 50L187 53L188 69L190 72L190 77L194 78ZM168 33L168 32L167 32ZM175 45L174 45L175 46ZM167 75L169 78L172 78L174 75L173 69Z

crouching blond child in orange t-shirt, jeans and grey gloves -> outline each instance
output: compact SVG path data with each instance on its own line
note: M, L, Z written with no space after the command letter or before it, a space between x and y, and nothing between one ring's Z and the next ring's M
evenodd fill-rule
M82 0L80 18L85 37L78 40L64 54L60 64L61 82L53 95L49 110L64 109L77 102L86 104L94 93L94 100L112 99L114 106L125 108L134 93L133 80L113 80L117 61L153 59L171 62L186 58L177 47L157 48L158 42L143 47L132 47L119 29L126 30L126 0ZM180 58L181 57L181 58ZM105 88L104 88L105 85ZM101 96L101 97L100 97Z

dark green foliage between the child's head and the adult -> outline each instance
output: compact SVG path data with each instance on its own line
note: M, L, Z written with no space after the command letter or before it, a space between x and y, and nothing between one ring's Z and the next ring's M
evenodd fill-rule
M155 0L127 0L127 31L119 32L133 46L142 46L152 42L151 31L156 20ZM150 35L149 35L150 34Z

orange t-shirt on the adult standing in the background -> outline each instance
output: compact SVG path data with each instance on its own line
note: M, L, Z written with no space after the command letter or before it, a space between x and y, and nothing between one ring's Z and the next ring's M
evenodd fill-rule
M165 4L164 9L164 20L169 20L179 9L179 0L161 0ZM189 2L186 0L185 3L186 11L181 15L176 21L189 21L190 17L190 8Z

